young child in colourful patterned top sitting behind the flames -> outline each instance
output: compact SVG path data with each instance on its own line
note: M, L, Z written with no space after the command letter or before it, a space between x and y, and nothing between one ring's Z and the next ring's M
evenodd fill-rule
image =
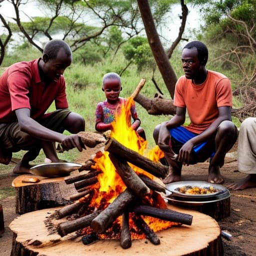
M119 97L121 91L121 79L117 73L109 72L104 74L102 79L102 90L105 93L106 99L101 101L96 106L95 129L103 132L112 128L111 122L114 120L114 114L117 107L125 102L125 99ZM137 116L135 104L132 104L131 109L132 128L145 140L145 132L139 127L140 120Z

